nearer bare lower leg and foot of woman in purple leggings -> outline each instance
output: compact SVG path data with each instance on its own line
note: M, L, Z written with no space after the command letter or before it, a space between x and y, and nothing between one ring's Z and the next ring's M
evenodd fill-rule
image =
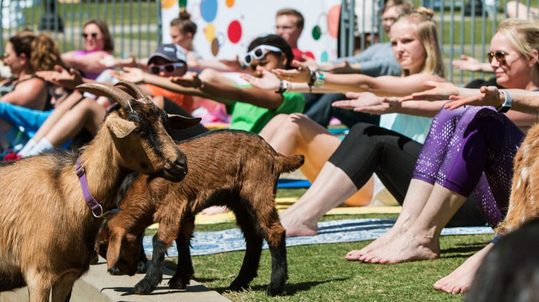
M424 210L413 225L384 246L366 253L360 260L370 263L400 263L437 258L439 235L465 201L466 197L435 184Z

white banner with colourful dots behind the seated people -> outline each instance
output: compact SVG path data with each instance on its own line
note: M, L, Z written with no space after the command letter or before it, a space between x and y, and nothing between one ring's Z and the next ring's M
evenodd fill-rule
M256 37L274 34L275 14L294 8L303 14L305 25L298 41L303 52L316 61L337 58L339 0L161 0L163 43L169 43L170 21L185 7L198 26L196 51L205 59L234 59L245 54Z

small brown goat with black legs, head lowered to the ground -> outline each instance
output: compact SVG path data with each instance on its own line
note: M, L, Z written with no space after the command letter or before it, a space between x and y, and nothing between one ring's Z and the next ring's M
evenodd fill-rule
M171 183L139 175L118 204L120 212L108 221L108 230L101 232L100 254L107 259L108 271L135 274L140 268L141 234L158 222L151 265L133 292L147 294L162 281L164 254L174 240L180 256L169 285L185 288L194 273L189 252L194 215L211 205L226 205L236 214L247 244L231 290L247 288L256 277L265 238L272 254L272 276L266 292L270 296L283 292L287 279L285 229L274 197L279 175L299 168L303 156L285 157L258 135L238 130L200 134L182 141L178 148L189 159L185 179Z

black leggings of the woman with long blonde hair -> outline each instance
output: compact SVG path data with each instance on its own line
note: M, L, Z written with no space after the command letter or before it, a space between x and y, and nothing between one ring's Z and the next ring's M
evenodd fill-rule
M368 123L357 123L329 161L361 188L376 173L399 204L404 202L422 144L397 132ZM447 226L485 225L469 198Z

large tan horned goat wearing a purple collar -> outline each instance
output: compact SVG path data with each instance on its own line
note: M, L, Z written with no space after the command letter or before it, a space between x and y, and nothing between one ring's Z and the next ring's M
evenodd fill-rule
M51 290L53 301L70 299L95 254L102 214L115 207L126 175L138 171L181 181L187 159L164 125L180 129L200 121L167 117L133 83L77 89L118 103L78 159L75 152L55 150L0 166L0 292L28 285L30 301L48 301ZM83 174L88 191L101 201L92 210L81 192Z

